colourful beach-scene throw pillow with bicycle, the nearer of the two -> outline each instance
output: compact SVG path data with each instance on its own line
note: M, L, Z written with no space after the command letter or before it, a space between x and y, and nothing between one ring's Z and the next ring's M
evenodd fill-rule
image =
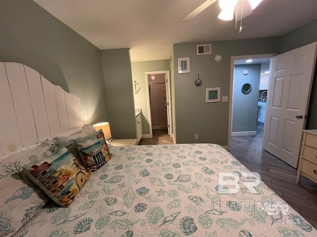
M68 207L90 172L65 147L48 158L22 167L26 175L57 204Z

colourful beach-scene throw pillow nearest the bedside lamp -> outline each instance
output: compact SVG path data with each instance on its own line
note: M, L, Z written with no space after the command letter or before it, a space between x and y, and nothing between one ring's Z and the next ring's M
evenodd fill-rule
M97 170L111 157L103 129L86 137L73 140L83 164L89 170Z

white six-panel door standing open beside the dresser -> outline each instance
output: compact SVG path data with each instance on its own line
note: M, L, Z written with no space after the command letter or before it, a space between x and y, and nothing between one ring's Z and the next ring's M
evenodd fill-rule
M295 168L311 94L316 44L277 55L270 63L263 148Z

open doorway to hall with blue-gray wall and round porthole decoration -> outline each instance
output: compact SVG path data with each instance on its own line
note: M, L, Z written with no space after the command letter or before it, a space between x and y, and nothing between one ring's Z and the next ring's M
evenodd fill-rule
M231 57L228 150L231 137L263 134L269 62L275 55Z

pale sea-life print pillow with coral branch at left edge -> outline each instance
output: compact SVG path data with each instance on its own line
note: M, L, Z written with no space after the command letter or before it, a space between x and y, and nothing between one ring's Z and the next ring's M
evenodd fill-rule
M0 161L0 236L9 237L25 225L50 198L24 175L22 166L52 154L50 146L33 145Z

